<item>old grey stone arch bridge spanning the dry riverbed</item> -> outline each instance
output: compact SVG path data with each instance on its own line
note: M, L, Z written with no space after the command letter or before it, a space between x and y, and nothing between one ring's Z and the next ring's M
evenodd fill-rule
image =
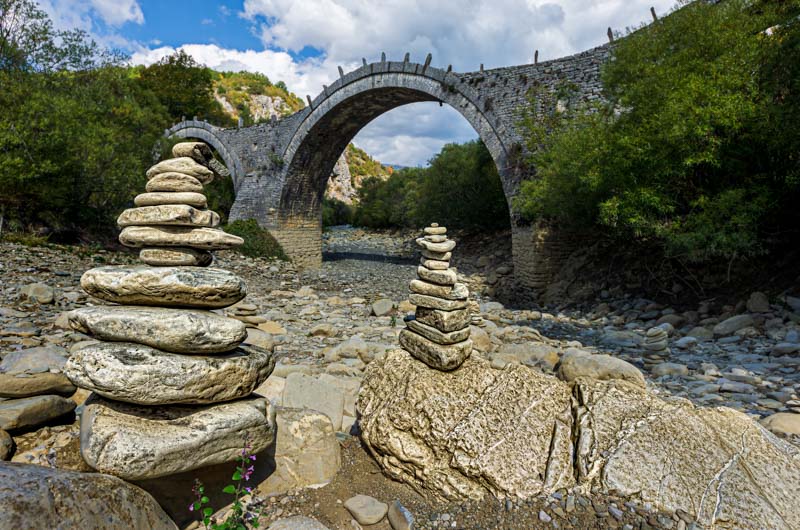
M511 211L514 270L532 288L543 287L574 245L546 227L532 227L515 214L511 200L533 175L524 164L519 122L530 94L570 94L571 102L600 97L600 65L608 45L536 64L456 73L450 67L403 61L368 64L344 73L303 110L250 127L222 129L188 120L167 137L197 138L214 147L236 190L232 219L254 218L268 228L301 267L322 261L322 198L347 144L370 121L401 105L436 101L455 108L488 147Z

